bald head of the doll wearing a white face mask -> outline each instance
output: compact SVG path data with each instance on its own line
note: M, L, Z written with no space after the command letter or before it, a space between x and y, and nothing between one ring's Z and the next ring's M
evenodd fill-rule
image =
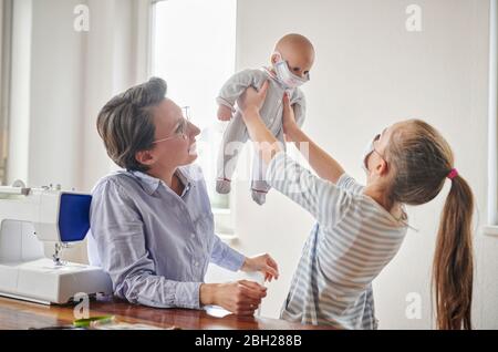
M271 64L277 76L289 87L297 87L310 80L314 62L314 48L301 34L287 34L276 44Z

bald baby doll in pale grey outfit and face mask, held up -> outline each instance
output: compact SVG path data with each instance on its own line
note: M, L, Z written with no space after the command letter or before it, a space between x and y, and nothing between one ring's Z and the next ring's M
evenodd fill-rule
M235 108L237 99L249 86L258 90L269 81L267 97L260 110L261 118L273 135L284 145L282 131L282 97L287 92L294 108L297 123L304 122L305 100L299 89L310 80L310 70L314 61L311 42L300 34L287 34L274 46L271 66L260 70L243 70L232 75L221 87L217 97L218 118L229 121L218 155L216 190L219 194L230 191L230 182L241 152L241 145L249 138L239 110ZM270 186L264 180L266 166L255 153L252 163L252 199L262 205Z

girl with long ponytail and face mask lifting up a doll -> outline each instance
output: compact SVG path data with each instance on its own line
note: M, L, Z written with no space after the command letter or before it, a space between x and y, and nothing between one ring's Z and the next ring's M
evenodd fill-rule
M385 128L365 153L360 186L295 124L283 97L283 131L318 177L289 158L259 117L266 83L241 102L251 139L268 163L267 182L317 219L304 246L281 318L344 329L376 329L372 281L394 258L407 231L404 205L452 188L440 217L433 288L439 329L471 329L473 193L454 168L447 142L430 125L409 120ZM300 147L304 144L307 147Z

